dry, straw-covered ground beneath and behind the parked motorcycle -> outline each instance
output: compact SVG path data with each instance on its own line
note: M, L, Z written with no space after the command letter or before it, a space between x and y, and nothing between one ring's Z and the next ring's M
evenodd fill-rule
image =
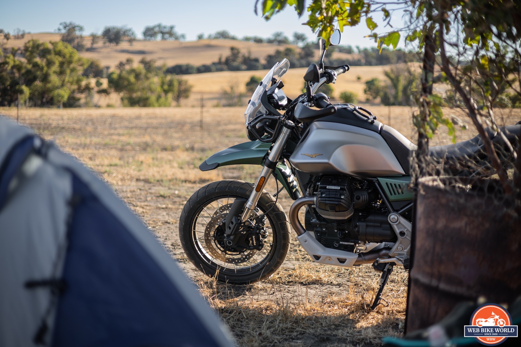
M411 108L365 106L383 123L390 120L396 130L414 139ZM198 108L22 109L19 119L114 187L199 285L239 345L378 346L384 336L401 336L407 294L407 272L401 267L383 293L389 305L370 311L380 274L370 265L351 269L317 265L296 237L278 272L253 285L218 284L188 261L178 236L184 203L209 182L253 182L259 172L260 166L254 165L197 169L214 152L247 140L243 111L205 108L202 129ZM0 113L16 119L15 108L0 108ZM521 114L499 110L497 117L500 123L514 124ZM458 131L458 140L474 135ZM443 128L431 140L432 145L447 143ZM273 192L274 183L268 188ZM292 201L282 195L279 201L289 211Z

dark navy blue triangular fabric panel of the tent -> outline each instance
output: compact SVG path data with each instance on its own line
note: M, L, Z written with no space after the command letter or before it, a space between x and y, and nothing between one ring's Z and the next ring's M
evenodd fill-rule
M71 222L63 276L68 290L59 303L54 345L216 345L197 328L200 319L178 300L179 291L152 257L77 177L73 195L80 202Z

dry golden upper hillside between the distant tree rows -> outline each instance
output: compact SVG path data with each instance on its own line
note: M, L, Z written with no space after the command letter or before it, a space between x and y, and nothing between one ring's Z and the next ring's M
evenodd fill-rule
M26 34L21 40L9 40L6 48L22 47L24 43L32 38L40 41L58 41L58 33L35 33ZM102 40L91 47L91 36L84 36L84 44L89 47L80 55L90 59L101 61L102 66L114 68L118 62L132 58L139 61L141 58L155 59L159 65L165 63L167 66L176 64L192 64L195 66L209 64L219 59L219 56L226 57L230 54L230 47L238 47L241 52L251 52L252 57L264 61L268 54L272 54L277 49L294 47L292 45L275 45L269 43L253 43L239 40L199 40L199 41L144 41L136 40L132 46L128 42L122 42L119 46L104 45ZM318 50L316 51L318 58ZM344 53L334 53L334 58L348 58Z

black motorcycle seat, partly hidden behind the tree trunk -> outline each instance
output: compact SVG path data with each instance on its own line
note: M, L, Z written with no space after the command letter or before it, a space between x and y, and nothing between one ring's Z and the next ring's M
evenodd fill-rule
M518 139L521 136L521 124L500 126L499 128L515 148ZM485 128L485 131L492 140L492 143L502 146L505 151L507 150L506 144L503 142L500 134L494 132L490 127ZM409 158L411 152L416 150L417 146L388 125L382 126L380 135L382 135L383 139L386 140L404 172L407 175L410 175ZM469 160L473 162L483 160L486 158L486 152L481 136L478 134L469 140L455 144L429 147L429 156L444 160L447 163L445 165L446 169L450 171L447 173L456 175L462 174L462 172L465 171L462 170L464 168L464 164L462 163L468 162Z

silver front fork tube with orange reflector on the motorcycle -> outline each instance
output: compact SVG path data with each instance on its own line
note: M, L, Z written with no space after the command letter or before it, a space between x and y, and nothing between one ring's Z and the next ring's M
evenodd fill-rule
M280 155L282 153L282 149L286 146L286 142L290 137L291 131L295 127L295 124L292 121L286 121L283 124L282 131L277 138L277 141L273 145L271 151L269 152L268 158L264 161L264 167L257 179L257 184L253 187L252 194L248 201L246 201L246 205L244 207L244 213L241 216L241 222L245 222L249 219L251 213L257 207L257 201L261 198L263 187L268 182L269 177L277 168L277 163L279 162Z

